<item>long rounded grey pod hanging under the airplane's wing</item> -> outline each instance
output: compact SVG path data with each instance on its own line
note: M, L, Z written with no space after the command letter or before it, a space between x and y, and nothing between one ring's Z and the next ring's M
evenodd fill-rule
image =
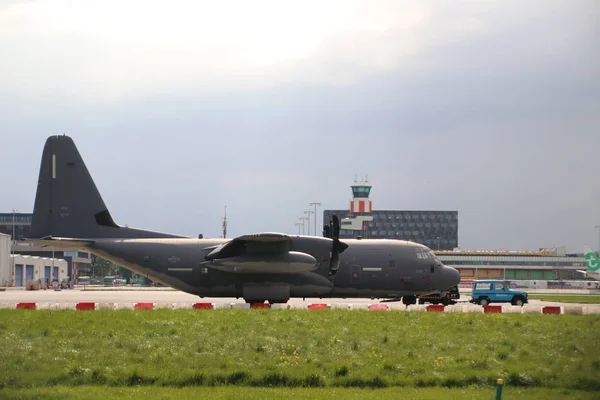
M317 260L310 254L288 251L273 255L219 258L202 263L207 267L238 274L295 274L314 271Z

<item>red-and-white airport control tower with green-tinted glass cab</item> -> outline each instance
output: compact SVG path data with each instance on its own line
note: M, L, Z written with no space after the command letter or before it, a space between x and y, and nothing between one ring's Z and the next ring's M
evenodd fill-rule
M371 184L367 177L357 180L350 186L352 189L352 200L350 200L350 212L348 217L343 218L341 229L351 231L353 237L367 237L367 222L373 221L373 204L369 200Z

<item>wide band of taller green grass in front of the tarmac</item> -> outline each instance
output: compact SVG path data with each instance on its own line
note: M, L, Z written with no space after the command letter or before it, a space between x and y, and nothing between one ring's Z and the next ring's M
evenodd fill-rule
M510 388L600 391L599 326L593 315L0 310L0 393L493 388L497 378Z

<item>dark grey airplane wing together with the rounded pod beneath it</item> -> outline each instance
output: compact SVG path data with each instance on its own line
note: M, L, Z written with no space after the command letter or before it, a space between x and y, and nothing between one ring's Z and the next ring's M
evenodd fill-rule
M283 233L239 236L215 247L203 266L237 274L285 274L312 271L317 260L292 251L292 238Z

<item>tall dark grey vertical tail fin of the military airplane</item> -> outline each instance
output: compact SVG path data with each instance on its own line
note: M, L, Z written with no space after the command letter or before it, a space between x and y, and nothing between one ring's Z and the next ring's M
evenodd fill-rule
M73 139L50 136L42 153L33 208L35 239L178 237L117 225Z

